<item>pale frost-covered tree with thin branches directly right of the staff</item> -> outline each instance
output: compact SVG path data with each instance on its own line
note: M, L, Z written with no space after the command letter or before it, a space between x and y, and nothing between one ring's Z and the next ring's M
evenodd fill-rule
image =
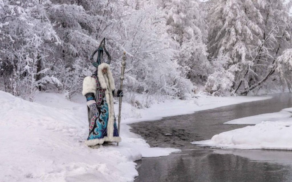
M193 86L172 59L176 42L166 32L163 10L151 2L128 2L125 8L116 33L120 40L115 40L123 43L119 47L128 52L124 81L127 92L187 98ZM119 66L117 70L119 74Z

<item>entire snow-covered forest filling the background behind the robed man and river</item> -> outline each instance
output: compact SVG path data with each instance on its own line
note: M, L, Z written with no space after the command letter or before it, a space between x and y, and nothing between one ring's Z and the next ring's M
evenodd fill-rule
M291 4L0 0L0 89L31 101L47 90L70 99L93 73L89 56L104 37L117 83L127 53L125 100L137 107L137 93L149 106L153 95L186 99L197 91L290 89L283 57L292 48Z

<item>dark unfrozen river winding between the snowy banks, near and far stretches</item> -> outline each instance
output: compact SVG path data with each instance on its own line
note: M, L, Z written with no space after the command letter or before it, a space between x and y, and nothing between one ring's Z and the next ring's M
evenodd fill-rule
M138 161L139 176L135 181L292 181L291 151L223 150L190 144L192 141L211 139L215 134L246 126L223 124L226 121L292 107L290 93L273 96L268 100L131 124L131 131L141 135L150 146L182 150L170 156Z

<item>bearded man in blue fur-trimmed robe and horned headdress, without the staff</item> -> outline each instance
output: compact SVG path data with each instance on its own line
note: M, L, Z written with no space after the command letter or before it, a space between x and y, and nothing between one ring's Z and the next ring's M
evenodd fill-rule
M94 54L98 52L97 61L93 61ZM108 60L104 62L103 53ZM84 78L82 94L87 100L89 135L85 144L96 146L104 142L121 142L114 114L113 97L122 97L123 91L116 89L114 78L110 70L111 56L105 48L105 39L90 58L97 69L92 76Z

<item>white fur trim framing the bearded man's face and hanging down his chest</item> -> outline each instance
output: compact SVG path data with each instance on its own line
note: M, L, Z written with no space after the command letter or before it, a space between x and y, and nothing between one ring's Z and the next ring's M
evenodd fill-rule
M107 84L105 83L105 77L102 74L102 69L103 68L107 68L107 78L109 79L109 87L112 90L115 90L115 86L114 86L114 77L112 76L112 72L110 70L110 66L107 63L101 63L98 68L97 68L97 77L98 77L98 81L100 83L100 87L102 89L106 89L107 88Z

